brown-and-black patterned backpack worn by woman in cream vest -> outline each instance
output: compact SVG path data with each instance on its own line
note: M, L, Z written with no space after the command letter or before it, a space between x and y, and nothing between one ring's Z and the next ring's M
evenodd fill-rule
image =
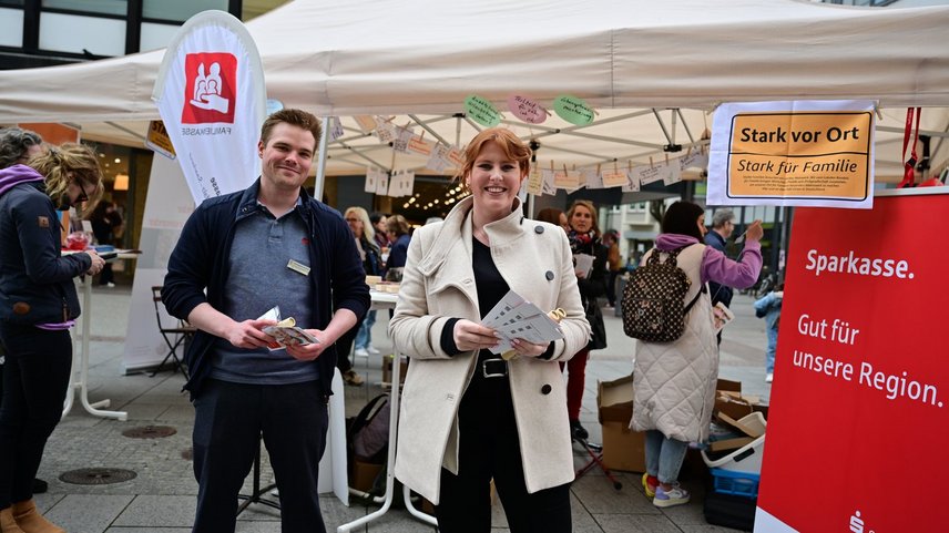
M684 305L692 281L676 264L683 249L669 252L665 262L661 262L662 254L654 248L646 264L630 275L622 301L626 336L646 342L672 342L682 337L685 316L706 291L703 285L695 298Z

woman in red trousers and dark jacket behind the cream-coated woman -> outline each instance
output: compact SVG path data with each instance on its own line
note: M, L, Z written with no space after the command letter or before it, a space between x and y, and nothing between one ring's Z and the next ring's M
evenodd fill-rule
M578 440L586 440L590 434L580 423L580 404L583 401L583 387L586 381L586 360L590 350L602 350L606 347L606 328L603 325L603 312L596 304L596 298L606 294L606 247L600 243L600 226L596 224L596 208L588 199L578 199L567 212L570 224L568 238L574 258L578 255L591 256L593 267L589 271L576 269L576 284L580 287L580 299L586 312L586 320L592 329L592 338L585 348L576 352L567 363L567 413L570 417L570 435Z

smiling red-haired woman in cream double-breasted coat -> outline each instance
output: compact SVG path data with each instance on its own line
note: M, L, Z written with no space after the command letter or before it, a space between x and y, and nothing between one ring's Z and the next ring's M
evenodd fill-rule
M412 358L396 475L436 503L445 533L490 531L492 478L512 532L571 531L573 454L558 361L586 344L590 327L563 232L521 215L530 155L500 127L468 144L459 177L471 196L416 230L389 322L396 350ZM519 339L511 360L489 351L498 338L480 321L509 289L562 308L563 340Z

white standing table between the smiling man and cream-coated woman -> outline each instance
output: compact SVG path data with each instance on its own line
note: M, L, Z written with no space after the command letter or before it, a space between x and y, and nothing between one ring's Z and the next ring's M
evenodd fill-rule
M373 297L373 307L371 309L391 309L396 307L396 301L398 301L399 297L397 294L392 293L380 293L373 290L370 291L370 296ZM376 511L361 516L348 524L343 524L336 529L337 533L345 533L347 531L351 531L355 527L358 527L363 524L367 524L379 516L386 514L389 511L389 508L392 505L394 492L396 486L396 443L398 439L398 428L399 428L399 378L401 373L401 365L398 363L399 355L396 353L392 363L392 391L389 397L389 454L386 458L386 495L385 500L382 500L382 506L377 509ZM411 501L410 494L411 491L408 486L402 488L402 498L405 499L406 509L412 516L421 520L422 522L427 522L431 525L438 525L438 521L435 516L430 514L426 514L419 510L417 510Z

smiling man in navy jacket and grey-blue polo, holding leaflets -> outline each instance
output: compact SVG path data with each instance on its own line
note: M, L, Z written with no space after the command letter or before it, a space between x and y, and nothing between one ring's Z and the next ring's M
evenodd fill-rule
M261 177L202 203L169 259L162 300L198 328L185 353L195 408L195 533L234 531L237 493L262 433L283 531L326 531L317 472L334 344L366 314L369 288L343 217L302 188L319 134L319 121L304 111L268 116L257 143ZM269 351L274 339L262 328L274 321L257 317L275 306L319 341Z

